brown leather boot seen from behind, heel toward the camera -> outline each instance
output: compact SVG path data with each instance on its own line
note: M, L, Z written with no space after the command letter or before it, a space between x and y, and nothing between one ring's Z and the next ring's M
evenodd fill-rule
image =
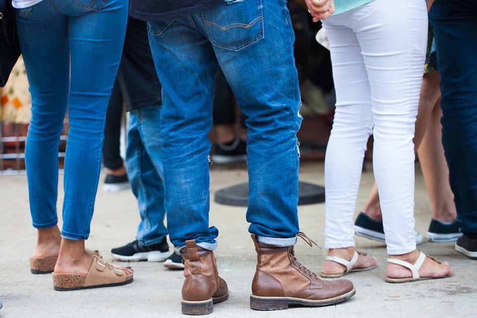
M229 298L229 289L219 277L214 252L197 246L194 239L185 243L187 247L180 252L185 265L182 314L208 315L214 310L213 304Z

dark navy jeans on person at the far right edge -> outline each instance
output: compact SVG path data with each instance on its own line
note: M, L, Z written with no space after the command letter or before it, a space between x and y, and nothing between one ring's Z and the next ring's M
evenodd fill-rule
M477 1L435 0L442 144L461 231L477 234Z

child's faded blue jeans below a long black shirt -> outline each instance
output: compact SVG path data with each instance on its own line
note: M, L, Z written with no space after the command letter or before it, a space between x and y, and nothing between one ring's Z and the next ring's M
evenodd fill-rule
M160 110L149 106L129 114L126 165L141 214L136 239L144 245L159 243L167 235Z

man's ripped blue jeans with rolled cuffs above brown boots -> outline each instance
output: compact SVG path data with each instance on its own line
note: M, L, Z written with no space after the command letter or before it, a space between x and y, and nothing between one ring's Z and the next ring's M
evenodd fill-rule
M299 231L297 131L300 92L286 0L225 1L172 21L150 21L162 84L165 209L176 249L187 239L214 249L209 227L209 152L220 66L248 116L249 232L290 246Z

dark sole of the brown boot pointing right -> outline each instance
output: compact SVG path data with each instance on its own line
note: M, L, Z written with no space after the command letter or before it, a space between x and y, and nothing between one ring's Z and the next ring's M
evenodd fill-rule
M306 300L301 298L294 297L260 297L260 296L250 296L250 308L260 311L269 311L269 310L285 310L288 309L290 305L299 305L307 307L321 307L338 304L345 302L356 294L356 290L328 299L322 300Z

